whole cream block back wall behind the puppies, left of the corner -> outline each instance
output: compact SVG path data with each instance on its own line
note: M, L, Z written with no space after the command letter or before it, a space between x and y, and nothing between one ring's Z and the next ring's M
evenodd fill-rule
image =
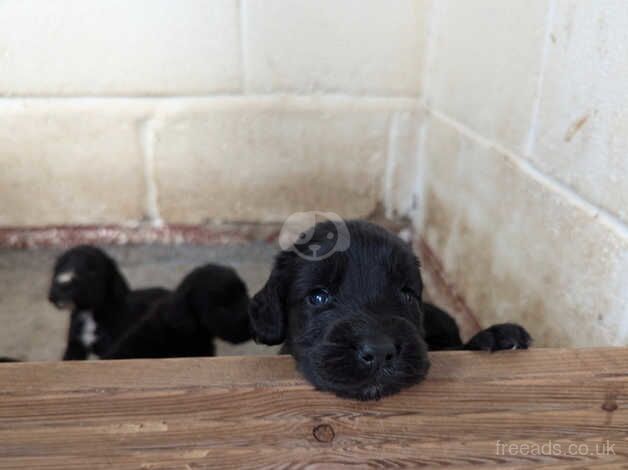
M390 125L416 108L426 8L0 2L2 131L14 136L0 140L0 189L11 193L0 224L369 214L390 149L411 145L412 129L403 144L389 142ZM282 69L271 70L273 61ZM285 81L276 86L271 75ZM309 92L318 98L290 97ZM20 106L36 109L32 126ZM92 184L92 167L102 174L106 164L87 162L109 152L127 166ZM58 188L50 175L68 182ZM124 191L109 194L105 183ZM42 200L28 197L31 185Z

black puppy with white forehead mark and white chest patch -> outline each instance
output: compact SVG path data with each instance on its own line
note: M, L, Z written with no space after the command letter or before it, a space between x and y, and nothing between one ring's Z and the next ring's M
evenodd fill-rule
M56 261L48 299L71 311L64 360L102 356L133 323L168 291L130 290L115 261L88 245L63 253Z

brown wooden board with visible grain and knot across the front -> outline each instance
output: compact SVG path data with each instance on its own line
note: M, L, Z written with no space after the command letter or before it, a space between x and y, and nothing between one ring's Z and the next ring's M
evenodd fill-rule
M283 356L0 364L0 469L628 468L627 348L432 363L378 402Z

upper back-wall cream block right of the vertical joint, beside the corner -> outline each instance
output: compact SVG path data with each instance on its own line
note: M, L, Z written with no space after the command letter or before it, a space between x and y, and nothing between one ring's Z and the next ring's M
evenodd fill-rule
M417 96L427 3L244 0L247 90Z

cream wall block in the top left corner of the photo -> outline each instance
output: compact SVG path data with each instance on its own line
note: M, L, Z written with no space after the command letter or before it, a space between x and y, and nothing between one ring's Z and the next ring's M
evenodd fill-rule
M0 2L0 95L240 90L233 0Z

